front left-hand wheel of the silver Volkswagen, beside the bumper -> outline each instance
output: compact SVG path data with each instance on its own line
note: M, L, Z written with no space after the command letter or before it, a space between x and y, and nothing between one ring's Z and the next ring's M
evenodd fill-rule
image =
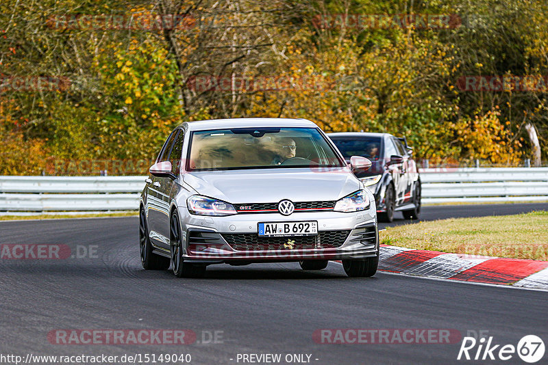
M203 275L206 275L206 265L184 262L181 225L176 211L171 215L169 232L171 265L175 276L177 278L202 278Z

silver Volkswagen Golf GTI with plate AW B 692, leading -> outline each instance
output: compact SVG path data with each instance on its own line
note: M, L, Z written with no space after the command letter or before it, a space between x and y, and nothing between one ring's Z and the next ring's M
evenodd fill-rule
M342 260L349 276L379 262L375 198L309 120L185 122L169 135L140 198L145 269L200 277L212 264Z

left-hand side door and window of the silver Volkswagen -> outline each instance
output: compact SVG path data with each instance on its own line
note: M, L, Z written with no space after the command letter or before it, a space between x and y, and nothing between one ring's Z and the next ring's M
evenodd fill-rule
M179 130L173 131L162 148L162 152L158 157L158 162L169 161L169 156L175 144L175 139L179 134ZM166 215L169 216L169 193L171 193L171 178L152 177L152 183L149 184L149 198L147 204L149 206L149 228L150 236L153 243L160 247L169 248L169 226L168 234L164 229L164 221ZM169 218L168 218L169 219Z

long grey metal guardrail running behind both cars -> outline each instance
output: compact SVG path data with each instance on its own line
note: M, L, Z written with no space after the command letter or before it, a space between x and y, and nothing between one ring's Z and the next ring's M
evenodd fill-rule
M548 201L548 167L421 169L423 203ZM0 215L136 211L147 176L0 176Z

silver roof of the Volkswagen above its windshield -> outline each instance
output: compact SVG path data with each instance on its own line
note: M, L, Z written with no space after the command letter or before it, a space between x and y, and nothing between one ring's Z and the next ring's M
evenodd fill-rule
M308 127L317 128L316 124L306 119L290 118L227 118L199 120L181 124L188 131L207 131L208 129L253 128L253 127Z

